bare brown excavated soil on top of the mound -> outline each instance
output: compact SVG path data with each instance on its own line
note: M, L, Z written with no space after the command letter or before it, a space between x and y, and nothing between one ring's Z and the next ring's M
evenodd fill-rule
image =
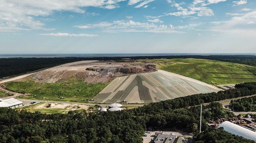
M50 68L34 73L27 78L32 78L40 83L65 82L70 78L83 79L87 83L106 83L115 77L154 72L156 70L156 65L145 62L97 61Z

